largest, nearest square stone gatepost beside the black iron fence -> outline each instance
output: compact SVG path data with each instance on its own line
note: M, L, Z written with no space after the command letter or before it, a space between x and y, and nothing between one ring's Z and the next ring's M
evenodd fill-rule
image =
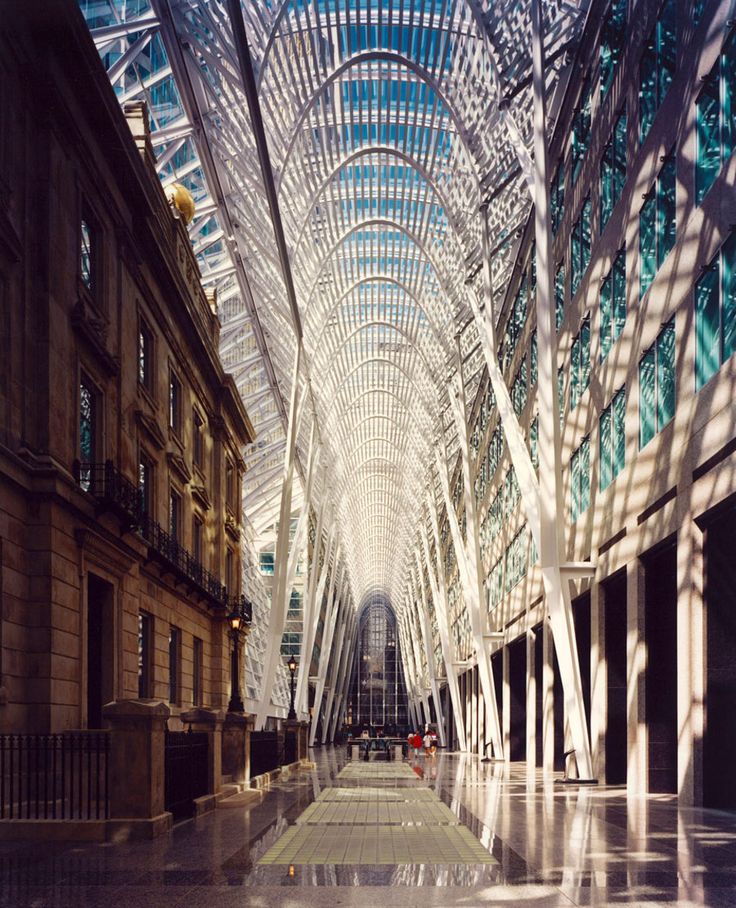
M150 700L103 707L110 726L110 837L154 838L173 824L164 810L166 720L170 709Z

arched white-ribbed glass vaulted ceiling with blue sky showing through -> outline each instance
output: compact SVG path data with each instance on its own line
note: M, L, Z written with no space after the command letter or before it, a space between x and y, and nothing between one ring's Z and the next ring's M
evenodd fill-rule
M543 6L554 110L587 0ZM226 3L82 8L120 100L149 102L161 179L198 200L192 242L218 288L223 359L258 432L245 497L255 536L278 514L296 380L308 389L302 478L316 420L325 470L312 505L331 509L353 600L380 590L400 603L435 449L457 447L447 389L458 343L471 396L480 376L468 304L481 299L479 209L488 204L497 302L529 213L503 113L530 147L529 3L243 3L303 325L296 379Z

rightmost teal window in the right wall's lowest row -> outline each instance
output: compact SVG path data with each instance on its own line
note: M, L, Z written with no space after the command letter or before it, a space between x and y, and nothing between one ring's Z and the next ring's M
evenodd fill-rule
M736 351L736 233L695 285L695 388Z

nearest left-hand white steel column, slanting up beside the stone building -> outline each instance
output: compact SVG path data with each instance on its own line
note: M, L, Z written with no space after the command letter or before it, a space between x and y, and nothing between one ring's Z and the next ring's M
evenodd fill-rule
M297 409L299 407L299 369L301 365L302 346L297 344L294 357L294 371L291 377L291 399L289 401L289 425L286 434L286 451L284 458L284 477L281 485L281 507L279 510L279 529L276 537L274 555L274 580L271 595L271 613L268 622L268 637L263 665L263 686L258 701L255 727L260 730L266 723L271 706L271 691L274 687L276 669L281 659L281 639L286 623L286 609L289 592L286 590L286 575L289 568L289 525L291 522L291 493L294 484L294 465L296 460ZM314 423L312 429L314 439ZM312 452L310 451L310 459ZM305 507L307 499L304 499Z

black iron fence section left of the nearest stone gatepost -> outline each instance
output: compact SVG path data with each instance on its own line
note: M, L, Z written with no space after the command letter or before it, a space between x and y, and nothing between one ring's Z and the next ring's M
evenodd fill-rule
M0 735L0 820L109 816L106 731Z

